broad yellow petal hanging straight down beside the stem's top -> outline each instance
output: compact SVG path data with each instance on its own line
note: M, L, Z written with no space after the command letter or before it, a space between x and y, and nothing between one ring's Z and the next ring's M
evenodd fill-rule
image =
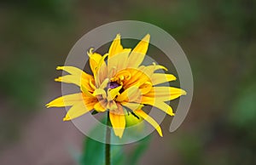
M109 111L109 118L113 127L113 133L122 138L125 130L125 115L122 106L118 104L118 109Z

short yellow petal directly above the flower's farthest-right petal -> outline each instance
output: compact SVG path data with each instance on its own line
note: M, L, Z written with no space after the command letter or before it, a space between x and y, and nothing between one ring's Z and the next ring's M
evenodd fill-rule
M154 85L157 85L160 83L175 81L176 79L177 78L174 77L172 74L154 73L150 80Z

